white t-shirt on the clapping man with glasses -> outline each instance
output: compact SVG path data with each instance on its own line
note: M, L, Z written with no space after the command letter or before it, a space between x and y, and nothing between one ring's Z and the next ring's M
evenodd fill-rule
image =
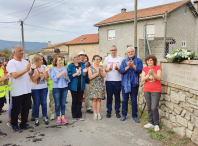
M115 70L114 67L116 64L120 67L122 60L123 59L120 56L112 58L110 55L105 58L103 65L107 65L107 68L110 68L111 64L113 64L113 69L106 73L106 81L121 81L121 74L119 71Z

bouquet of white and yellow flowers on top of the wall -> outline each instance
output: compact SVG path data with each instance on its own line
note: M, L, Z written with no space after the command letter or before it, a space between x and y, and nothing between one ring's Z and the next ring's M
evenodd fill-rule
M191 53L190 50L177 49L173 53L167 54L166 59L168 62L181 62L183 60L194 60L196 56L195 52Z

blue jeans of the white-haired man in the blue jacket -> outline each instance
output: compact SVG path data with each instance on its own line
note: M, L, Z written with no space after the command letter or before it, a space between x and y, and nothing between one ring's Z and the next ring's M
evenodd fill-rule
M137 87L131 87L130 93L125 93L124 86L122 86L122 115L127 116L128 113L128 100L129 100L129 94L131 97L131 108L132 108L132 117L137 118L137 95L138 95L138 88Z

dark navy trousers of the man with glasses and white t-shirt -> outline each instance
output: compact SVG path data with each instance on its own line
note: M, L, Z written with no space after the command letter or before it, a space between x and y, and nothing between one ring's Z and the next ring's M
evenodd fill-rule
M113 95L115 96L115 111L120 111L121 81L106 81L107 112L112 111Z

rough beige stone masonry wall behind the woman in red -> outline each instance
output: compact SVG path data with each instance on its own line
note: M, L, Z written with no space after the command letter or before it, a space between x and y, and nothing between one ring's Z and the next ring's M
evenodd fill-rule
M160 122L181 136L191 138L198 145L198 91L163 81L161 84ZM143 85L140 81L140 109L143 109L145 104Z

